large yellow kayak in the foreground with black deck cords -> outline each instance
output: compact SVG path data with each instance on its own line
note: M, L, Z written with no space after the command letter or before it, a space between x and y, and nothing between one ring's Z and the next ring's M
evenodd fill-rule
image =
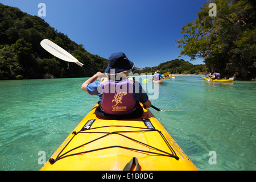
M97 106L41 170L197 170L150 110L139 118L105 120L94 114Z

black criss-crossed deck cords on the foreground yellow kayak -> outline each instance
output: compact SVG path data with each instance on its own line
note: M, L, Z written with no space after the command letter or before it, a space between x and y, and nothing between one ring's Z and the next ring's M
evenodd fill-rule
M95 120L94 120L95 121ZM93 121L93 122L94 122ZM146 125L146 124L145 124ZM94 130L94 129L99 129L99 128L103 128L103 127L130 127L130 128L135 128L135 129L143 129L143 130L134 130L134 131L113 131L111 133L108 133L108 132L94 132L94 131L91 131L91 130ZM163 150L160 150L159 148L156 148L156 147L153 147L153 146L150 146L146 143L143 143L143 142L140 142L139 140L135 140L133 138L130 138L130 137L127 137L126 135L123 135L122 133L135 133L135 132L158 132L160 134L160 136L163 138L164 142L166 142L168 148L170 148L170 151L171 151L171 154L169 152L166 152L166 151L163 151ZM99 138L96 138L90 142L87 142L87 143L84 143L84 144L81 144L80 146L77 146L67 152L65 152L64 154L61 154L64 149L68 146L68 144L72 141L72 139L77 135L77 134L105 134ZM154 127L153 128L144 128L144 127L135 127L135 126L120 126L120 125L110 125L110 126L100 126L100 127L95 127L95 128L92 128L90 126L89 129L86 129L85 131L84 130L81 130L79 132L76 132L76 131L73 131L73 137L68 141L67 144L65 144L65 146L63 147L63 149L60 151L60 153L57 155L57 158L56 159L49 159L49 163L51 164L54 164L55 162L57 162L57 160L60 160L60 159L63 159L63 158L67 158L68 156L73 156L73 155L80 155L80 154L86 154L88 152L93 152L93 151L98 151L98 150L104 150L106 148L115 148L115 147L119 147L119 148L125 148L127 150L133 150L133 151L139 151L139 152L145 152L145 153L150 153L150 154L156 154L156 155L162 155L162 156L169 156L171 158L175 158L176 160L179 160L179 157L176 155L174 149L171 147L170 143L168 142L168 140L166 139L166 137L164 137L164 135L162 134L161 131L159 130L156 130ZM80 148L80 147L83 147L83 146L86 146L86 144L89 144L89 143L92 143L96 140L99 140L101 138L104 138L104 137L107 137L109 135L113 135L113 134L116 134L116 135L121 135L122 137L125 137L127 139L130 139L130 140L133 140L134 142L137 142L137 143L140 143L144 146L147 146L149 148L153 148L159 152L151 152L151 151L144 151L144 150L139 150L137 148L130 148L130 147L123 147L123 146L108 146L108 147L102 147L102 148L96 148L94 150L89 150L89 151L83 151L83 152L78 152L78 153L75 153L75 154L69 154L69 152L73 151L73 150L76 150L77 148Z

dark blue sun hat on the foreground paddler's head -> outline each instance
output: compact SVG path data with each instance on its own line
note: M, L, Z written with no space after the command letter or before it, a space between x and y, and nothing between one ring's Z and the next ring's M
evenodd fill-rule
M133 67L134 63L126 57L125 53L116 52L112 53L112 55L109 56L109 64L105 70L105 73L112 75L113 73L110 73L110 69L115 69L115 75L117 73L130 71L131 69L133 69Z

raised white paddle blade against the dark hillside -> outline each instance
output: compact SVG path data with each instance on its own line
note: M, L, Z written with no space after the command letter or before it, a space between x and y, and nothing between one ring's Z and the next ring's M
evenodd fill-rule
M80 63L74 56L72 56L69 52L65 51L63 48L58 46L57 44L51 42L51 40L44 39L41 41L41 46L46 49L53 56L59 57L64 61L73 62L82 67L82 63Z

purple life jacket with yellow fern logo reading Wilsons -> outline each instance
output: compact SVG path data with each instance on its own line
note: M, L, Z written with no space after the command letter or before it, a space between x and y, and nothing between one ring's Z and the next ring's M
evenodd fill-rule
M134 82L105 81L101 83L103 91L101 107L106 114L123 115L134 111L136 101L133 96Z

